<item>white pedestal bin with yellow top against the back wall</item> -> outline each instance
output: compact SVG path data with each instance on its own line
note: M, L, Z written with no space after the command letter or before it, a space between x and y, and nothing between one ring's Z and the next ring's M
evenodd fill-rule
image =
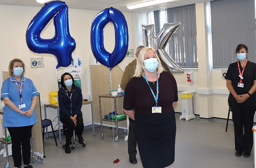
M181 98L181 116L180 120L186 121L196 118L193 114L193 92L183 91L180 93Z

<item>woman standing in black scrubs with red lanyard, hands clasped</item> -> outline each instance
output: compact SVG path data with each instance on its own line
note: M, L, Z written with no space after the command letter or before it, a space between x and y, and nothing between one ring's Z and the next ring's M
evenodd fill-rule
M227 69L228 102L234 122L236 156L249 157L253 146L253 116L256 110L256 64L248 61L248 48L239 44L238 61ZM243 131L244 127L244 131Z

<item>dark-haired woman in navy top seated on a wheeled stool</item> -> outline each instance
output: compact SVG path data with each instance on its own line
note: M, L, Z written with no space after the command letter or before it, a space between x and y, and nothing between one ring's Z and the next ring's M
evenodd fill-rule
M69 144L75 128L79 144L85 144L82 137L82 91L75 86L74 78L69 73L61 75L62 87L58 91L58 102L60 107L60 121L67 126L65 153L71 153Z

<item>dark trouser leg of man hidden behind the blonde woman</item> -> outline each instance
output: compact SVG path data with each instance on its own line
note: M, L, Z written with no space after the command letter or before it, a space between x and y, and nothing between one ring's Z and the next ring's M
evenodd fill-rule
M129 133L128 133L128 154L129 156L136 156L137 138L135 136L134 120L129 118Z

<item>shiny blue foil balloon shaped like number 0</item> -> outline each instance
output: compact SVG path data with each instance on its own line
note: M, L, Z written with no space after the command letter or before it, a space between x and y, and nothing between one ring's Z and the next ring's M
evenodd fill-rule
M112 53L105 50L103 44L103 29L109 22L113 23L115 31L115 47ZM107 8L99 12L91 25L91 50L99 63L110 70L118 65L128 50L128 26L122 12L115 8Z

